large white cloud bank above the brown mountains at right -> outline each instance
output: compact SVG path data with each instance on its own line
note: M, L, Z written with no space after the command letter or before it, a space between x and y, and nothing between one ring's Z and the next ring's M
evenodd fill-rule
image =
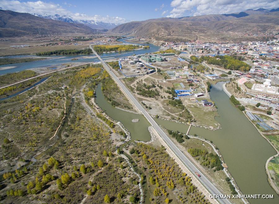
M279 0L173 0L173 7L167 17L182 17L184 13L192 15L228 14L247 9L273 9L279 7Z

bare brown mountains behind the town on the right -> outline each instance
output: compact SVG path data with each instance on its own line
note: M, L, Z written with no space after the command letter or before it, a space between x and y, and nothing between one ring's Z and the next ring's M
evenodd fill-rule
M121 24L110 33L149 37L156 41L262 40L266 34L279 32L279 8L246 10L232 14L185 16L132 21Z

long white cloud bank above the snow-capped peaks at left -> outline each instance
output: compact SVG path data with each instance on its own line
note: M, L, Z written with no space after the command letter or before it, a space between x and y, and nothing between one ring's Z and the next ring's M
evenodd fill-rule
M67 2L63 3L65 6L73 6L68 4ZM20 2L16 0L1 0L0 7L3 10L11 10L21 13L35 13L35 14L48 14L48 15L66 15L73 20L94 20L96 22L106 22L106 23L116 23L122 24L125 23L126 20L121 17L112 17L112 16L100 16L100 15L86 15L83 13L72 13L66 9L64 9L59 4L48 3L43 1L36 2ZM75 6L74 6L75 7Z

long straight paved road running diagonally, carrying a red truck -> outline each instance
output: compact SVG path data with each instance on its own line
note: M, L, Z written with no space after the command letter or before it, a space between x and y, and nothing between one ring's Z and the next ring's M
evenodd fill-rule
M201 175L200 182L206 187L206 189L212 194L222 194L216 186L211 183L211 181L202 174L199 169L186 157L186 155L174 144L173 141L166 135L166 133L160 128L160 126L155 122L155 120L145 111L144 107L138 102L138 100L134 97L134 95L126 88L126 86L120 81L117 76L111 71L110 67L100 58L100 56L93 50L90 46L93 53L100 59L101 63L103 63L105 69L111 76L113 76L116 83L119 87L125 92L125 94L130 98L130 100L134 103L134 105L143 113L143 115L148 119L149 123L155 128L157 133L162 137L162 139L166 142L166 144L170 147L170 149L176 154L176 156L184 163L184 165L194 174L195 172L199 172ZM231 203L228 199L218 199L220 203Z

